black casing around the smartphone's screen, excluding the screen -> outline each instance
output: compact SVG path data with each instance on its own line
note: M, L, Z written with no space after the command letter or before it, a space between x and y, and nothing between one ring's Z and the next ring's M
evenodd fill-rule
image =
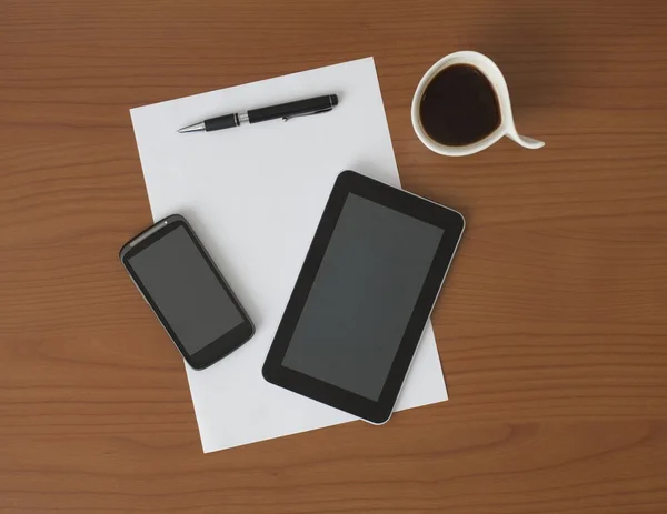
M146 286L141 282L141 279L135 272L129 262L129 260L133 255L137 255L142 250L147 249L148 246L156 243L157 241L165 238L167 234L180 226L182 226L186 230L195 246L199 250L203 260L207 262L207 264L218 279L220 285L222 286L222 289L225 289L225 291L231 299L231 302L238 309L238 311L241 314L241 318L243 319L243 321L239 325L235 326L229 332L222 334L220 337L210 342L203 349L199 350L193 354L187 352L186 347L169 325L169 322L167 321L165 315L162 315L162 313L160 312L160 309L158 308L158 305L151 298L149 291L146 289ZM147 233L148 235L143 236L143 234ZM229 355L243 343L248 342L250 337L252 337L255 333L255 325L252 324L250 316L248 316L248 313L231 291L231 288L229 286L229 284L227 283L227 281L225 280L213 261L211 260L210 255L201 244L201 241L199 241L199 238L197 238L197 234L182 215L173 214L168 218L165 218L163 220L158 221L151 228L142 231L140 234L132 238L121 249L120 261L122 262L123 266L130 274L130 278L137 285L137 289L139 289L146 302L150 305L151 310L153 311L153 313L156 314L156 316L171 337L171 341L191 367L196 370L203 370L205 367L210 366L211 364L216 363L226 355Z

